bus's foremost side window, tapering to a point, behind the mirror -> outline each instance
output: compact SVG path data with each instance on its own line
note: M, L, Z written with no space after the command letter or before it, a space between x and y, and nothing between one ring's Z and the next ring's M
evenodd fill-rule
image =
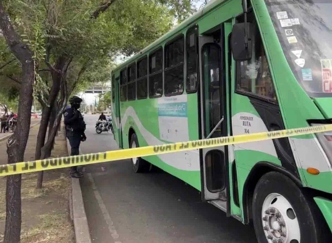
M252 36L251 60L237 62L236 91L276 101L276 92L257 25Z

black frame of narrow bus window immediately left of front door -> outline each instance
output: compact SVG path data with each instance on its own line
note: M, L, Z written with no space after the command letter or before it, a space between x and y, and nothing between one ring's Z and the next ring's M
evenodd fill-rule
M192 31L195 30L196 31L196 72L197 72L197 84L196 84L196 89L195 90L188 90L187 88L187 75L188 75L188 56L187 56L187 36L188 34ZM194 26L191 26L190 28L188 28L187 32L186 32L186 36L185 36L185 87L186 87L186 93L187 94L194 94L197 92L198 87L200 85L200 58L199 58L199 53L200 53L200 45L199 45L199 26L196 24Z

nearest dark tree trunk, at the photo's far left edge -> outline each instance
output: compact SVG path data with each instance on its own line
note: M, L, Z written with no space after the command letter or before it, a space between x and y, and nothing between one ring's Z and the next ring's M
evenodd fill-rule
M24 160L24 151L30 131L33 83L35 80L35 62L32 59L34 53L21 42L3 8L1 0L0 27L10 50L22 64L23 78L20 87L17 126L14 134L7 142L8 163L16 163ZM21 179L21 175L7 176L4 243L19 243L21 241Z

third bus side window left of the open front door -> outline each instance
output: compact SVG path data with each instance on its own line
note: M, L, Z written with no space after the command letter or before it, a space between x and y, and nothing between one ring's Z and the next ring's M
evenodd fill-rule
M163 48L159 48L149 56L149 97L163 95Z

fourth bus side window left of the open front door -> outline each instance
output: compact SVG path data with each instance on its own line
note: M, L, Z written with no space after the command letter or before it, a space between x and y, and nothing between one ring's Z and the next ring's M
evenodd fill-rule
M137 99L147 98L147 57L137 62Z

